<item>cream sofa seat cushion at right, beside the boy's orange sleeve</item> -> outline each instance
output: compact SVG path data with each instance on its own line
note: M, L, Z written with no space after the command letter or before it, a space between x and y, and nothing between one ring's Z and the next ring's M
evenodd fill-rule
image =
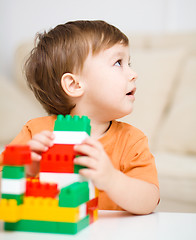
M154 153L164 199L196 204L196 156Z

